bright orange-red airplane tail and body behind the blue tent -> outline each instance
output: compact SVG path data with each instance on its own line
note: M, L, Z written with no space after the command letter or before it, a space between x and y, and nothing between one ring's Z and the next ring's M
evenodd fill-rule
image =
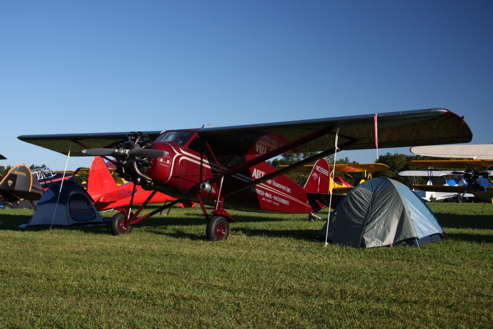
M134 191L134 194L132 194ZM109 172L104 160L101 157L94 158L89 180L87 182L87 193L94 200L94 205L98 210L123 209L121 207L133 204L142 204L150 196L151 192L142 189L134 183L118 185ZM175 201L176 197L170 197L163 193L156 193L147 200L147 203L165 203ZM195 203L180 202L181 208L195 206Z

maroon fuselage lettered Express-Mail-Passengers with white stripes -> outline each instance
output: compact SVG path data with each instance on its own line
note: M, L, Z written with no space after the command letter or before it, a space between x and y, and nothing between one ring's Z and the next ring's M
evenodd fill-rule
M212 154L199 146L200 138L196 133L186 143L155 141L152 145L169 153L154 158L147 171L153 180L152 188L157 191L197 202L200 196L205 204L215 206L216 202L222 202L224 208L244 211L310 213L315 210L305 190L286 175L238 190L254 179L277 170L267 162L224 175L221 186L221 173L255 158L255 155L236 155L224 150L214 150ZM210 184L212 190L198 188L204 181Z

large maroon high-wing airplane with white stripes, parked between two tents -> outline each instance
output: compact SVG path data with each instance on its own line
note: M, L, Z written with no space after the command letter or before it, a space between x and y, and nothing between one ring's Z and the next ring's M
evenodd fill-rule
M376 120L378 119L378 130ZM466 143L472 133L464 117L443 108L287 121L268 124L187 129L164 132L110 132L22 135L20 140L71 156L114 157L119 175L144 190L149 199L162 192L177 200L139 217L122 209L111 220L113 234L179 202L198 202L206 220L207 237L225 240L226 209L253 212L314 213L328 205L330 195L304 189L285 172L310 164L339 150ZM288 152L313 152L280 170L267 160ZM109 159L108 159L109 160ZM317 166L316 166L317 167ZM319 168L328 175L328 168ZM325 181L325 180L321 180ZM210 218L205 204L214 207Z

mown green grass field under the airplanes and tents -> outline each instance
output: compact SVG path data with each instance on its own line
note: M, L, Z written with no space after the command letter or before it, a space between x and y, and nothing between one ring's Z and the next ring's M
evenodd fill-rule
M366 250L311 242L305 215L231 212L209 242L200 207L121 236L0 210L0 327L491 328L493 204L429 205L450 239Z

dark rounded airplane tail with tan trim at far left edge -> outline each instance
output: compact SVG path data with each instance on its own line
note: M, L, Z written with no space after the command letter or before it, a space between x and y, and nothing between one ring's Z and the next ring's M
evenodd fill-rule
M39 200L41 194L33 191L33 176L26 165L15 165L0 180L0 202L15 203L21 199Z

